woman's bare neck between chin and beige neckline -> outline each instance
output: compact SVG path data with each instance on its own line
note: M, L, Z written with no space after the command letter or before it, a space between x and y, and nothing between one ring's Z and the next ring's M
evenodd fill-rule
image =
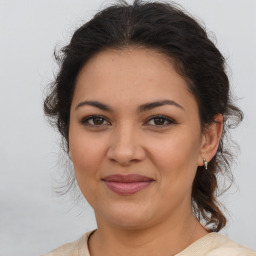
M91 256L170 256L207 234L192 213L140 230L100 224L89 240Z

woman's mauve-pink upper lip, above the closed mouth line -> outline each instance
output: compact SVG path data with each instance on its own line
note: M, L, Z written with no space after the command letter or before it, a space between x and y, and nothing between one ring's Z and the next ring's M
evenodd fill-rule
M120 183L149 182L154 179L139 174L113 174L104 177L102 180Z

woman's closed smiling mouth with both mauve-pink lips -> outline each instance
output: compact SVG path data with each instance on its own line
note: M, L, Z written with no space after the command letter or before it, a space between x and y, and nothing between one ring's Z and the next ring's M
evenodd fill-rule
M138 174L114 174L104 177L102 181L119 195L132 195L148 187L154 179Z

